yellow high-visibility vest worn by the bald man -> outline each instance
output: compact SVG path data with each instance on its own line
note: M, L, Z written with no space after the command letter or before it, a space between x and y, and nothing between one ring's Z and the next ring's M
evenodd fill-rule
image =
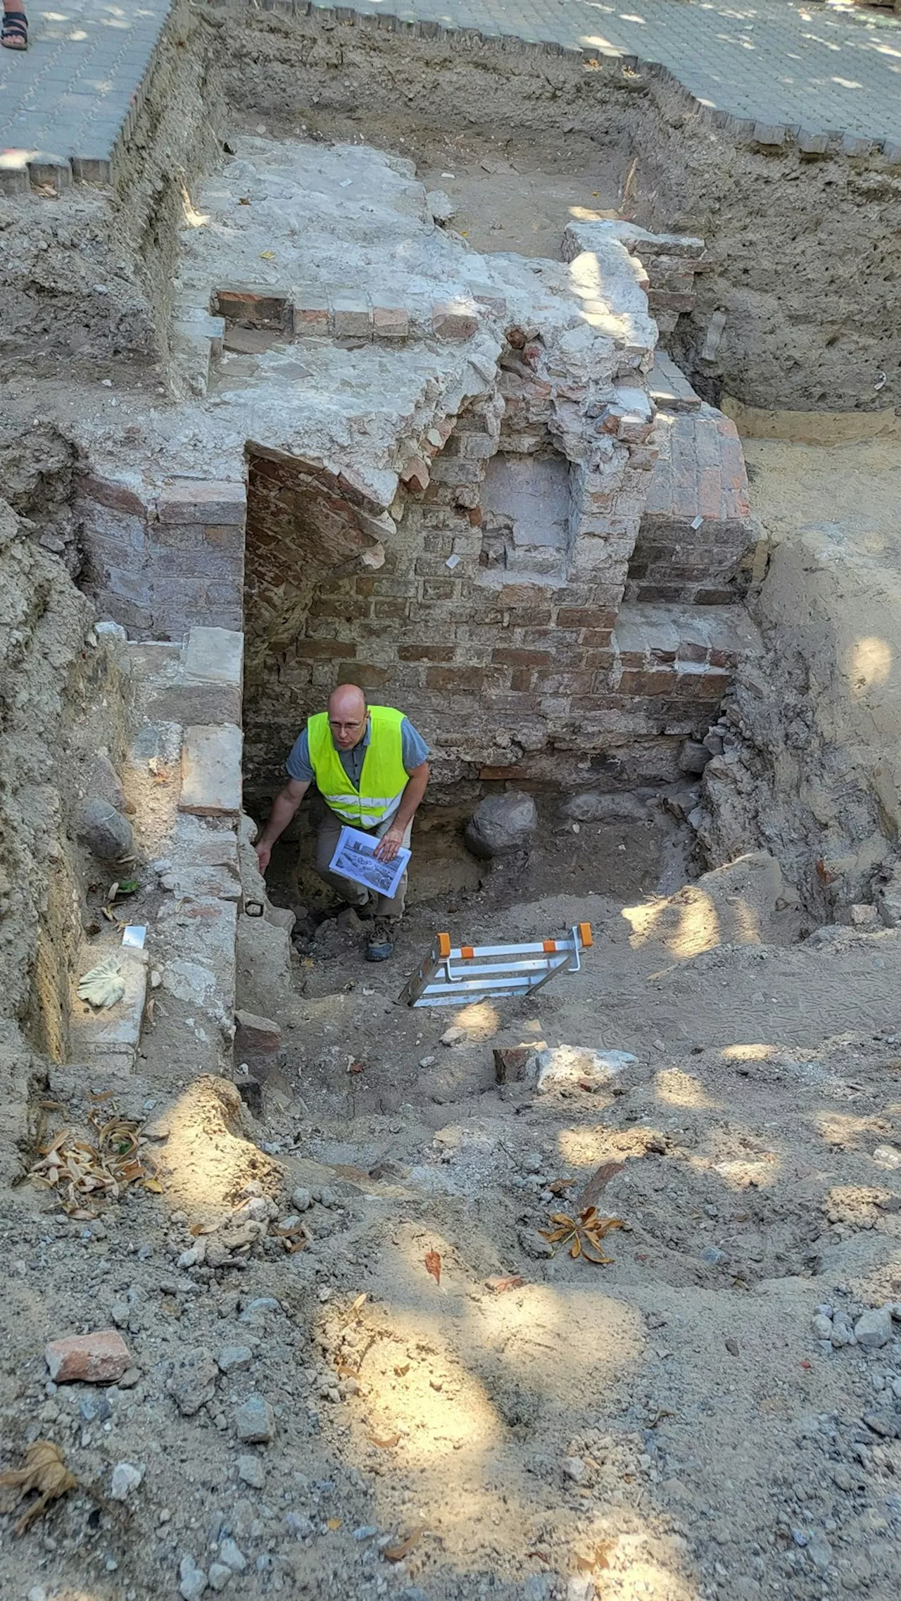
M360 788L354 789L334 749L328 712L317 711L307 717L310 767L317 789L325 804L354 828L378 828L400 805L408 778L400 738L402 722L403 712L394 706L370 706L370 743L363 756Z

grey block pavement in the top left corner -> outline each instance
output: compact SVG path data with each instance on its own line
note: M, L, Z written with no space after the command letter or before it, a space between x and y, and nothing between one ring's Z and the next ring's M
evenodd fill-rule
M26 0L30 48L0 50L0 152L80 157L82 176L104 165L138 104L170 0L70 0L37 10ZM3 154L0 154L3 162ZM93 168L88 163L101 163Z

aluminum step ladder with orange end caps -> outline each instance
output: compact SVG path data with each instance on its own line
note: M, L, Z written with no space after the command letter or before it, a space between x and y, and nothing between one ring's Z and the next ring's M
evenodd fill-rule
M589 922L573 924L562 940L527 945L451 946L450 933L438 933L397 999L406 1005L466 1005L535 994L555 973L578 973L592 943Z

